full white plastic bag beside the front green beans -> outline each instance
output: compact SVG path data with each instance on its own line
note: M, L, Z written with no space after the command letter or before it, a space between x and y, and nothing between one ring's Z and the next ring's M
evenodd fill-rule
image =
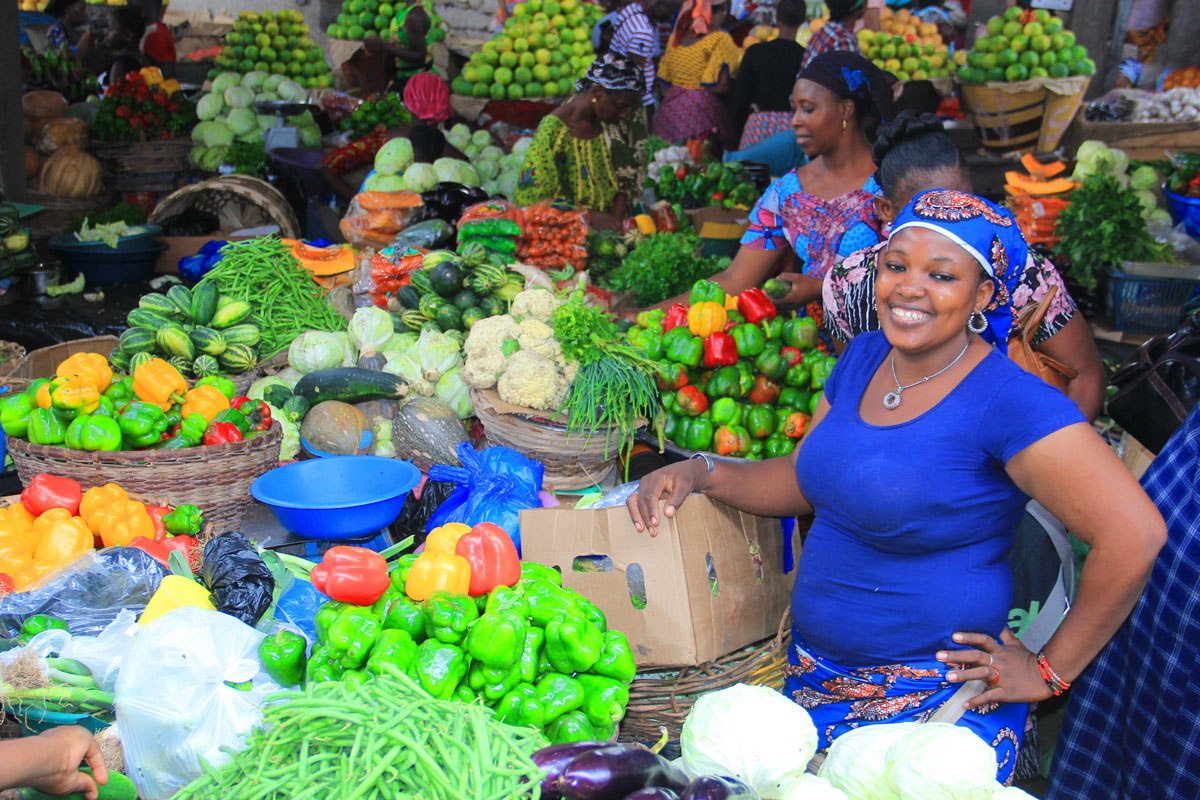
M144 800L167 800L229 756L278 684L263 672L263 634L221 612L179 608L138 634L116 680L126 774ZM248 687L245 685L248 681ZM242 688L235 688L241 685Z

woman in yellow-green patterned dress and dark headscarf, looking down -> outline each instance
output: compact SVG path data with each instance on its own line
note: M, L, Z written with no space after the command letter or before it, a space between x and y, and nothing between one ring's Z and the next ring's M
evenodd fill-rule
M538 125L521 166L517 205L564 199L589 210L593 228L619 227L628 198L617 182L613 151L602 125L642 102L642 68L620 53L598 56L576 94Z

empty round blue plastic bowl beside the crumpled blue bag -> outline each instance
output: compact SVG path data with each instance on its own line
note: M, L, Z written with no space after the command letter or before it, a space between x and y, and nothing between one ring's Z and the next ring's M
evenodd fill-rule
M386 527L421 470L382 456L313 458L277 467L250 486L289 533L317 541L358 539Z

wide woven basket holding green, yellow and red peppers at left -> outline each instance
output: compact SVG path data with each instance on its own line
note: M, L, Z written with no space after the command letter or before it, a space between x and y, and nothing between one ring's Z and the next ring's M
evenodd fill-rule
M278 465L282 439L277 423L253 439L184 450L89 452L10 437L8 453L26 486L38 473L72 477L83 486L112 481L142 497L170 498L204 509L215 533L223 534L241 528L253 503L250 485Z

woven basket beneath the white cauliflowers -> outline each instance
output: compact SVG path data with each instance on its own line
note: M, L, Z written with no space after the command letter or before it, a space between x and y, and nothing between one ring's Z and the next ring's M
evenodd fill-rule
M564 426L497 411L494 403L502 401L493 389L472 389L470 401L488 441L540 461L546 469L545 483L556 489L600 486L617 469L620 447L611 433L606 455L602 435L568 435Z

